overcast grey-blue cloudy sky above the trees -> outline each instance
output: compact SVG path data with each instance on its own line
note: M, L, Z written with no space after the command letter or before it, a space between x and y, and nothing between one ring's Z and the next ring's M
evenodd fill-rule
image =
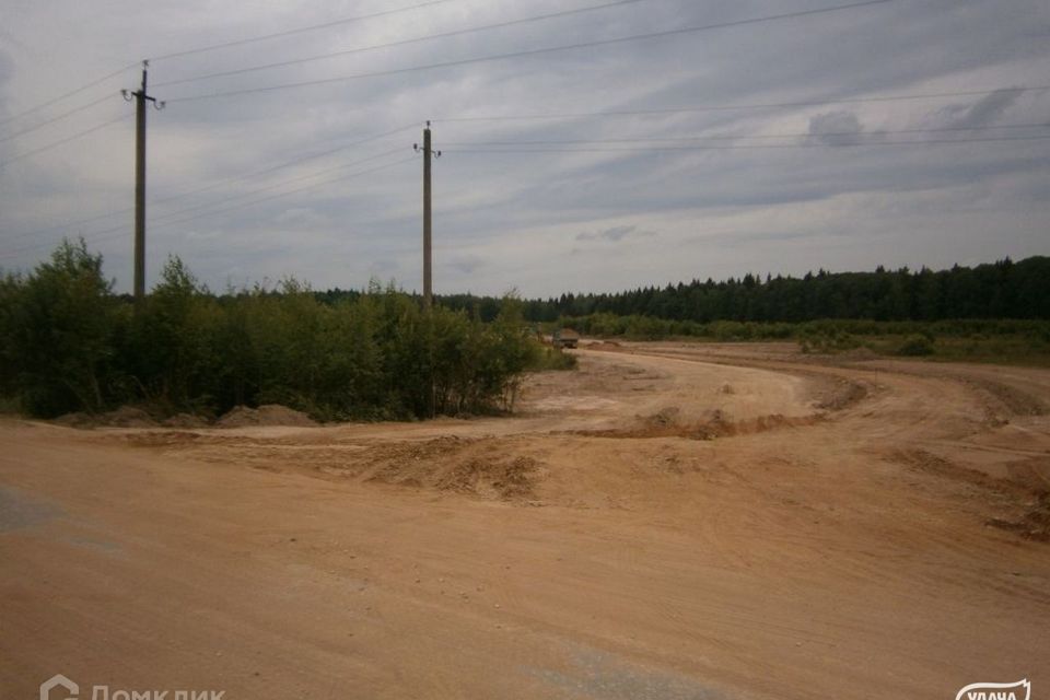
M843 7L852 5L852 7ZM0 269L551 296L1050 255L1045 0L0 0ZM281 63L281 66L272 66Z

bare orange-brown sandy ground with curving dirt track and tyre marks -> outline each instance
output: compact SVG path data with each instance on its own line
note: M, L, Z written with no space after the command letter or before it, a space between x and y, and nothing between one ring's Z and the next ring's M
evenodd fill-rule
M0 698L1050 688L1050 372L580 355L512 418L0 421Z

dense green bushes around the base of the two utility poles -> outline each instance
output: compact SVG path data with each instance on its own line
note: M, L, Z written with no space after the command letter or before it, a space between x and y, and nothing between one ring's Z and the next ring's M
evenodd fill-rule
M42 417L126 402L281 402L323 420L490 411L511 406L540 353L510 298L482 323L378 284L330 304L295 280L218 296L171 258L136 306L83 242L0 281L0 394Z

